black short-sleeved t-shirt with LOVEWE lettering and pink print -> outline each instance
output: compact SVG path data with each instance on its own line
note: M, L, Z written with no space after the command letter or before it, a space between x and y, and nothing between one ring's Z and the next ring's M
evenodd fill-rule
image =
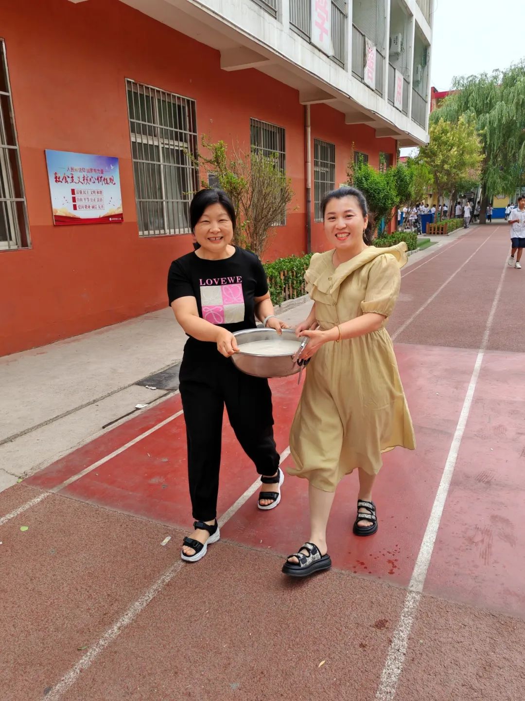
M169 268L169 304L179 297L195 297L200 318L231 332L255 328L254 299L267 292L262 263L254 253L237 246L230 258L207 260L192 252L173 261Z

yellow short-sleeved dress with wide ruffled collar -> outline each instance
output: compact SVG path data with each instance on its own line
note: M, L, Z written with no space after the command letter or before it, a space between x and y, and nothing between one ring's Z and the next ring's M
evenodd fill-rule
M367 247L337 268L333 250L316 253L305 274L321 329L376 312L388 318L398 299L407 246ZM386 322L386 320L385 320ZM416 447L414 428L385 323L378 331L325 343L307 368L290 432L295 468L323 491L344 475L381 469L381 453Z

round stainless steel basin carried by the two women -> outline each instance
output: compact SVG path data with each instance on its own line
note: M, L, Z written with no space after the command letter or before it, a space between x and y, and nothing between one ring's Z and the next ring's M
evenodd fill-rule
M291 356L289 352L283 353L282 355L255 355L254 353L248 354L242 352L243 343L267 341L269 339L272 339L274 343L279 343L284 339L288 341L293 339L297 341L298 347L300 340L297 339L295 331L292 331L292 329L283 329L281 336L279 336L274 329L263 328L237 331L233 335L237 339L239 353L232 355L232 361L241 372L255 377L287 377L288 375L295 375L296 372L300 371L300 364L297 363L297 360L293 360L293 356ZM304 336L302 341L307 341L307 337Z

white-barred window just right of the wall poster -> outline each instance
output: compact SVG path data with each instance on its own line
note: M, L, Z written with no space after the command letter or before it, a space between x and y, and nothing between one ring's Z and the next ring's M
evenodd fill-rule
M129 93L135 93L144 95L150 100L152 114L151 121L148 121L148 116L139 114L131 114L130 111L130 100ZM168 93L166 90L161 90L160 88L155 88L153 86L145 85L144 83L137 83L132 79L126 79L126 99L127 99L127 111L128 111L128 123L130 126L130 141L132 143L132 163L133 163L133 177L135 184L135 201L137 204L137 224L139 226L139 236L141 238L150 238L151 236L180 236L182 234L191 233L189 226L189 207L190 200L193 194L198 189L199 172L197 165L195 163L198 155L197 148L197 116L196 116L196 103L190 97L183 97L182 95L176 95L176 93ZM161 123L159 117L158 100L165 100L166 102L179 105L186 110L186 129L178 126L169 126L165 123ZM132 126L133 123L133 126ZM134 131L134 128L140 126L141 133ZM151 133L148 133L151 132ZM179 136L184 135L185 139L174 139L169 138L169 134L173 132ZM138 158L134 155L133 144L146 144L148 146L153 146L158 149L158 161L148 161L146 158ZM183 154L183 163L168 163L165 160L164 149L170 149L173 154ZM144 154L143 154L144 156ZM193 160L190 156L193 156ZM137 173L135 171L135 166L137 165L137 170L139 172L139 177L137 182ZM152 173L151 166L155 169L159 168L160 178L157 182L156 180L156 170L155 170L155 186L160 185L160 198L148 198L144 197L146 193L145 189L142 189L141 181L141 165L144 170L144 177L146 177L146 165L150 165L149 172ZM171 169L170 178L174 176L176 180L179 180L179 175L181 176L181 196L182 200L172 200L167 198L167 168ZM186 181L190 184L190 189L183 191L183 180L179 169L185 171ZM153 178L152 178L153 179ZM147 184L146 184L147 187ZM172 215L172 220L175 222L180 221L181 212L176 206L176 203L183 206L182 217L186 217L188 226L183 227L172 227L169 226L169 215ZM146 206L146 217L144 217L144 208ZM150 229L149 228L149 215L151 205L151 215L152 218L155 210L158 213L158 217L162 214L162 222L164 226L162 229ZM170 211L170 207L172 208ZM147 220L147 221L146 221ZM143 227L141 228L141 222ZM146 226L148 227L146 229Z

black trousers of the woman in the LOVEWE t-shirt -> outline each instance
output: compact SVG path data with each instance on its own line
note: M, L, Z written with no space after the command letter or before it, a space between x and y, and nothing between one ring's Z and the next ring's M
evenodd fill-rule
M237 370L216 346L206 355L185 350L179 373L193 518L217 516L224 407L246 455L260 475L279 467L273 430L272 393L268 381Z

